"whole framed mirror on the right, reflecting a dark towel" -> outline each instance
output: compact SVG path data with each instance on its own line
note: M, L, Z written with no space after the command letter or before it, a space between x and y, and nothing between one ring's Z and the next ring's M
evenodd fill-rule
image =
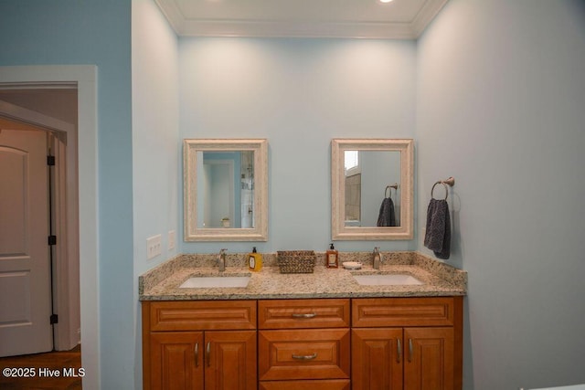
M413 177L413 140L332 140L332 239L412 239Z

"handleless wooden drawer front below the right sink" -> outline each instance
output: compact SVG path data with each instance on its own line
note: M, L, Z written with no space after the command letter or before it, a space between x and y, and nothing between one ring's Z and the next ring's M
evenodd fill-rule
M352 326L452 326L454 311L452 297L355 299Z

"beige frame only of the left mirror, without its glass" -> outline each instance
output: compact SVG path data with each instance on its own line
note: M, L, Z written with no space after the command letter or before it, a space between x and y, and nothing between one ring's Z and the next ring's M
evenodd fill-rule
M254 153L254 227L197 226L197 152ZM190 139L183 142L184 240L268 240L268 141L265 139Z

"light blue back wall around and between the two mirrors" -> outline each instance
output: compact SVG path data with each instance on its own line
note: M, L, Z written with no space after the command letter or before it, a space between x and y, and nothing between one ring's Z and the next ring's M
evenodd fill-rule
M416 44L350 39L181 38L182 138L267 138L269 241L229 251L326 250L332 138L413 138ZM383 189L380 190L380 196ZM381 197L380 197L381 200ZM378 205L379 206L379 205ZM338 242L339 250L416 241ZM184 243L184 252L217 252Z

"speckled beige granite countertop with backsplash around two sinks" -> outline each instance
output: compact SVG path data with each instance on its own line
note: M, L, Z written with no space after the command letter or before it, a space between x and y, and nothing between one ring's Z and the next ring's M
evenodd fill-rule
M246 254L231 254L224 272L215 265L217 255L179 255L139 278L140 300L257 300L303 298L433 297L465 295L467 272L418 252L382 252L380 269L371 266L371 253L343 252L338 269L324 267L317 253L314 273L282 274L275 254L264 254L259 272L244 267ZM360 261L360 270L343 269L344 261ZM422 285L363 286L352 274L408 274ZM179 288L194 276L250 276L245 288Z

